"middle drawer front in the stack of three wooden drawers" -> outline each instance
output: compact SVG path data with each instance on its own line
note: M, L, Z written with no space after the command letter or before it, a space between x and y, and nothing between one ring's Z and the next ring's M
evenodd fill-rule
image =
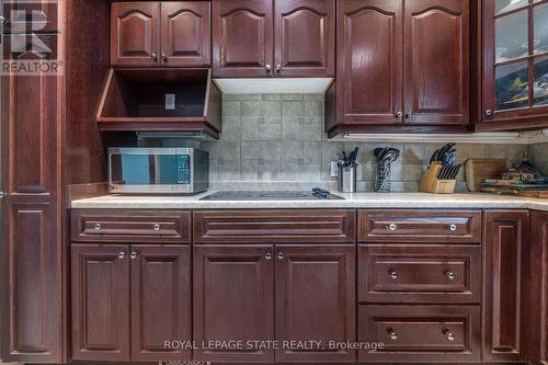
M358 299L479 304L481 247L362 244Z

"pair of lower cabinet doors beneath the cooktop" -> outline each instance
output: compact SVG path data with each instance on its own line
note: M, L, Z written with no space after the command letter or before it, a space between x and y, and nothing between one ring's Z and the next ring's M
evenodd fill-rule
M195 246L193 254L194 340L206 345L194 360L355 362L354 351L323 347L355 341L354 246ZM274 340L278 349L256 347Z

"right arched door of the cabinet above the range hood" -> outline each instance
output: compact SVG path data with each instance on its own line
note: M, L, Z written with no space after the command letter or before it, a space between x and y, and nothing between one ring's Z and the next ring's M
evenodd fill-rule
M274 44L277 76L333 77L334 0L275 0Z

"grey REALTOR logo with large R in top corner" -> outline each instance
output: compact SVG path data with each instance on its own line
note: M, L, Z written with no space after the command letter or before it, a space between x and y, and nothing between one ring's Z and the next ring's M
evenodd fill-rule
M60 76L58 0L4 0L1 75Z

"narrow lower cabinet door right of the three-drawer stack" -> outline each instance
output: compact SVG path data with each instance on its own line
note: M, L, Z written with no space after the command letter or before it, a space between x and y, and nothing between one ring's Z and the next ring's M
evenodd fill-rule
M524 361L527 300L527 210L484 215L483 360Z

